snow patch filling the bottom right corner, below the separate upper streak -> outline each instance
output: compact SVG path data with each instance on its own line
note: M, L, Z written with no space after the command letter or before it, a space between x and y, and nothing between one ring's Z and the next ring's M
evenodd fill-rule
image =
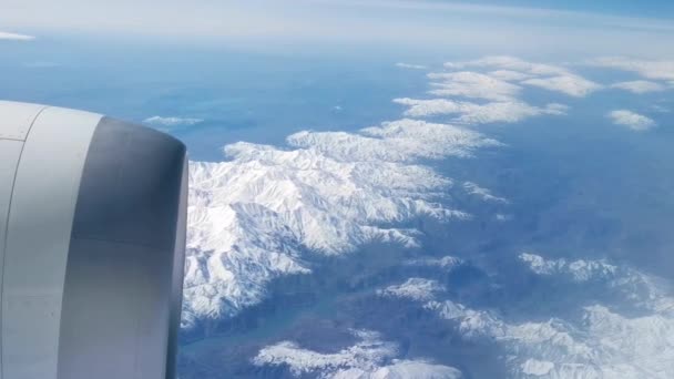
M664 314L626 318L594 305L583 324L560 319L508 324L489 311L452 301L427 309L458 324L464 338L488 338L506 349L514 377L671 378L674 375L674 318Z

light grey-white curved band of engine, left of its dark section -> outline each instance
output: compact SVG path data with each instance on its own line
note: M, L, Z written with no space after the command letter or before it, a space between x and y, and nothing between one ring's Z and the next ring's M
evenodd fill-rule
M57 107L19 162L2 286L2 377L55 378L61 301L84 158L101 116Z

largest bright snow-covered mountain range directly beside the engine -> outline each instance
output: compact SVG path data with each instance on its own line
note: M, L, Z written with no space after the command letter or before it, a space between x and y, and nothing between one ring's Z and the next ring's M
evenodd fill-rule
M231 161L191 164L184 327L258 303L275 277L309 273L307 252L417 246L418 231L395 225L468 218L447 206L452 181L415 162L499 145L412 120L359 133L302 132L288 143L296 147L236 143L225 147Z

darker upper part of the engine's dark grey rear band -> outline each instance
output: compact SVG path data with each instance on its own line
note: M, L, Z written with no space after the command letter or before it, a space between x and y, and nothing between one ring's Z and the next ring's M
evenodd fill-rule
M104 117L86 160L73 237L173 248L184 158L185 146L172 136Z

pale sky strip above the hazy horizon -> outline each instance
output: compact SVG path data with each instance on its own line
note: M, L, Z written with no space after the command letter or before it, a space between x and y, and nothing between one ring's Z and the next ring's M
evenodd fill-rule
M4 0L0 31L270 48L269 41L671 58L666 1ZM547 9L545 9L547 8ZM655 18L656 17L656 18ZM499 51L501 50L501 51Z

